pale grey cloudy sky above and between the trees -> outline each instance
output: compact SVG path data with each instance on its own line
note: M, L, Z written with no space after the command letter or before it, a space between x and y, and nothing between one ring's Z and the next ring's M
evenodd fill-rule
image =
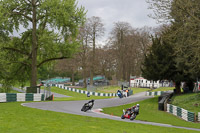
M134 28L158 26L147 15L151 13L146 0L77 0L87 10L87 17L98 16L102 19L107 38L114 22L125 21Z

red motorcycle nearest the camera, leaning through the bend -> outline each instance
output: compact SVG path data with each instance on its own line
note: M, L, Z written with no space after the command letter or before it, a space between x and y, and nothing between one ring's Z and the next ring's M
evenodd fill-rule
M132 109L132 108L129 108L129 109L126 109L126 111L123 109L123 114L121 116L121 119L130 119L130 120L134 120L137 116L137 113L138 112L138 109L135 108L135 109Z

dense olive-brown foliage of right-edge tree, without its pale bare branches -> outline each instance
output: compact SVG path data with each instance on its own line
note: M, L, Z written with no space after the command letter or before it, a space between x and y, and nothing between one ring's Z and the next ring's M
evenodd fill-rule
M170 15L174 18L172 28L176 36L177 65L184 65L188 78L196 79L200 76L200 1L174 0Z

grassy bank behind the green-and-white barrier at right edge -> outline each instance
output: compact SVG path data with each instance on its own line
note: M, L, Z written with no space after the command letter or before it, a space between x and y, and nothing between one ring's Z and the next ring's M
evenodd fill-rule
M176 95L172 98L171 104L197 114L200 112L200 93Z

